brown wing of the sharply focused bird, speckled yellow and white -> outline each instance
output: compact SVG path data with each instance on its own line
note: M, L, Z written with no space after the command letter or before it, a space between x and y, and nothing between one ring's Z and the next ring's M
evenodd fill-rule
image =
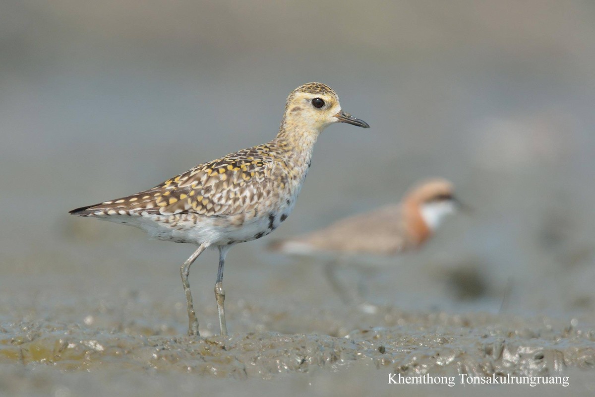
M274 183L286 183L274 157L255 146L199 164L152 189L131 196L77 208L79 215L233 215L254 210L273 199Z

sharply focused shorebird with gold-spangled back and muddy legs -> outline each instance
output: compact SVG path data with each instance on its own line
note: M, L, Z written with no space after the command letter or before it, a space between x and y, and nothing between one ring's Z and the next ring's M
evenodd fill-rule
M152 189L88 205L70 214L127 224L151 237L198 245L180 267L188 311L188 334L200 336L192 305L190 265L206 248L219 249L215 300L222 336L227 336L223 266L231 246L273 232L295 206L311 165L318 135L333 123L369 128L342 110L327 85L307 83L287 97L277 136L196 165Z

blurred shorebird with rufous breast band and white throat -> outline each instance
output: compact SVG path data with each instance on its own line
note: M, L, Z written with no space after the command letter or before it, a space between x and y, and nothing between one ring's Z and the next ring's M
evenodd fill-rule
M353 215L305 235L274 241L268 248L289 255L326 257L328 282L343 301L349 302L336 275L339 260L415 251L430 239L446 215L461 207L453 195L452 183L434 178L412 187L399 204Z

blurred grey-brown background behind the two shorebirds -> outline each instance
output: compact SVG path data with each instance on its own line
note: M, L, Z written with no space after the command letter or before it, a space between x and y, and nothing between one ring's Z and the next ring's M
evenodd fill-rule
M474 211L419 255L371 260L369 301L590 316L594 22L591 1L3 1L0 320L80 323L100 299L140 296L175 307L184 333L179 265L192 246L67 211L272 139L288 93L311 81L372 128L328 128L289 221L230 252L232 332L242 299L341 305L320 262L268 242L396 202L430 176ZM216 268L208 252L190 274L208 327Z

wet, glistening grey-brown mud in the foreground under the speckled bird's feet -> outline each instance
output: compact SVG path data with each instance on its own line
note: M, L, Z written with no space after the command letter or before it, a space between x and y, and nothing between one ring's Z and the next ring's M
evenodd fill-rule
M133 311L149 314L149 318L162 315L159 306L151 312L151 308L143 307L138 301L132 305ZM236 327L262 330L241 330L227 338L189 337L174 335L175 327L148 326L145 321L122 323L117 320L121 315L109 310L95 317L87 316L89 325L84 321L2 321L0 365L11 368L8 372L15 377L5 378L0 390L17 392L18 382L12 383L11 379L36 374L54 379L51 384L64 376L77 379L73 374L86 373L85 382L92 383L104 376L123 383L143 377L168 379L167 382L178 379L181 383L189 379L207 383L228 380L232 383L226 383L225 387L242 389L239 386L242 383L237 381L285 382L290 376L299 383L300 377L314 376L318 382L334 384L337 376L345 373L375 379L375 390L383 393L390 392L386 385L389 373L455 377L460 373L470 376L574 373L580 378L595 369L595 328L581 326L584 320L577 318L566 322L549 317L480 312L411 312L386 305L334 310L300 305L284 311L274 306L243 304L230 305L229 315ZM111 327L93 326L97 322ZM271 330L275 326L297 328L299 324L311 332L284 334ZM312 332L314 329L319 332ZM208 333L208 329L203 331L205 335ZM89 374L94 375L89 378ZM183 374L190 378L184 378ZM46 388L43 385L42 382L39 388L33 387L29 392L42 392ZM67 385L69 391L77 389L73 383ZM581 387L585 385L588 383L581 383ZM308 390L302 386L303 391ZM143 387L130 391L140 392L145 390ZM337 392L340 390L337 387L331 387L330 391ZM445 392L453 390L446 389ZM102 386L98 390L107 389ZM149 388L145 392L150 395L156 390Z

